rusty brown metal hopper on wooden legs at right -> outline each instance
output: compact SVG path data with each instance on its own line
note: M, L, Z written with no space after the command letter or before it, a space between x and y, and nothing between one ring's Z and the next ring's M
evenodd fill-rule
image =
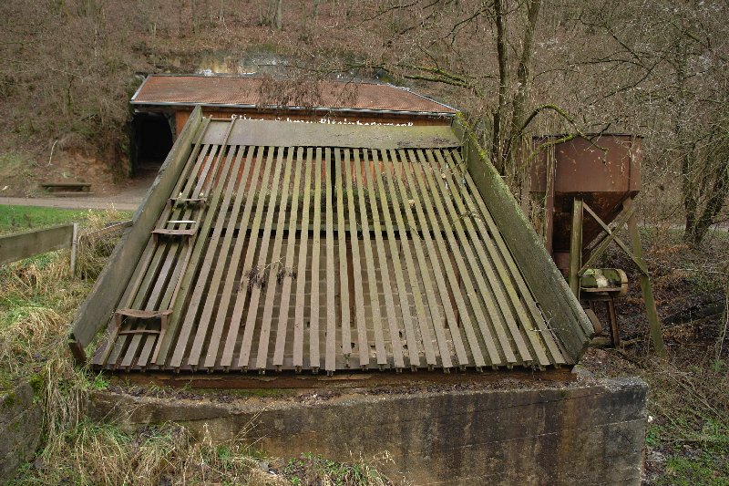
M535 137L535 149L563 136ZM572 202L580 198L603 222L613 221L622 202L641 191L641 137L601 134L581 137L542 149L531 167L532 193L545 198L545 235L549 253L567 268L570 253ZM585 220L583 249L601 233L601 226Z

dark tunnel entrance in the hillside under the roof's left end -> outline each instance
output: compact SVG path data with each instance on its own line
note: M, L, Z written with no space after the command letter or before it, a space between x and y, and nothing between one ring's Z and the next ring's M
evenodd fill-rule
M138 113L134 124L137 150L133 175L137 178L159 171L174 140L169 121L161 113Z

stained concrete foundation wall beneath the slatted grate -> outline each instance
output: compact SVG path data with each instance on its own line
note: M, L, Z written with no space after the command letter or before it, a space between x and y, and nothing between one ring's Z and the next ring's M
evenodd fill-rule
M216 440L253 423L256 447L282 458L387 450L385 473L415 484L640 484L646 393L636 378L232 403L100 392L89 414L132 427L176 421Z

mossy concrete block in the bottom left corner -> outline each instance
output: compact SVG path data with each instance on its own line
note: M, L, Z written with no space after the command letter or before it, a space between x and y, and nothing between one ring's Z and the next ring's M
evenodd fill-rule
M27 384L0 393L0 481L11 479L40 442L43 412Z

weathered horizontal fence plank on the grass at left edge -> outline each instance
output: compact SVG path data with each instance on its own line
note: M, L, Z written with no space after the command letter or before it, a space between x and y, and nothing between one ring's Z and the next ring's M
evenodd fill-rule
M73 233L73 224L61 224L44 230L0 236L0 264L9 264L36 254L70 248Z

